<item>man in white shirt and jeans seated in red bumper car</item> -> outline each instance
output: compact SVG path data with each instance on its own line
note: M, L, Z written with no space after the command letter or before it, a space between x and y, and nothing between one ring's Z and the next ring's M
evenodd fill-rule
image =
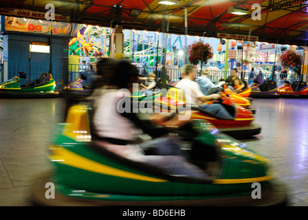
M221 104L202 104L210 100L218 100L219 94L204 96L198 83L195 80L196 70L194 65L188 64L183 68L183 79L177 83L176 87L183 90L187 105L199 105L201 109L209 111L223 118L233 118ZM200 105L201 104L201 105Z

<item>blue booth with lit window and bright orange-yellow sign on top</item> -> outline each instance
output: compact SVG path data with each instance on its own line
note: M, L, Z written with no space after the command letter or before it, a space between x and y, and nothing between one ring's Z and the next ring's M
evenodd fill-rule
M43 19L1 16L3 71L0 80L8 80L18 72L25 72L27 80L35 80L43 72L52 72L57 87L61 87L68 74L68 43L74 34L73 26Z

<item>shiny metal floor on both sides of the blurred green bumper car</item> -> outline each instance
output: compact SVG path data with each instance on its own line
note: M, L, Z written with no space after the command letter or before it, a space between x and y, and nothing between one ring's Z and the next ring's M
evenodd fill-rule
M308 100L254 99L262 131L248 147L272 160L287 184L290 206L308 206ZM0 99L0 206L28 206L31 179L52 168L45 157L62 98Z

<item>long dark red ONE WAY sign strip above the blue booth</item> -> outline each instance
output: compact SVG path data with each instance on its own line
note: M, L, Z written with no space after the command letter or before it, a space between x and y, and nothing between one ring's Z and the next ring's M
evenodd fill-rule
M8 15L11 17L25 17L25 18L32 18L32 19L45 19L44 12L33 12L28 10L8 10L8 9L0 9L0 14ZM63 16L61 14L54 14L54 21L65 21L69 22L69 17Z

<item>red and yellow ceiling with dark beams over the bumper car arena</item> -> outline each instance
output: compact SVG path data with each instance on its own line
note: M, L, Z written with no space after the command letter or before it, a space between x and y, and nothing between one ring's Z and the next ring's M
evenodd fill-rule
M72 23L123 25L126 29L211 37L219 33L241 34L258 36L259 41L289 45L308 42L308 0L173 0L174 5L159 1L5 0L0 1L0 8L1 11L46 12L45 5L52 3L55 14L69 17Z

